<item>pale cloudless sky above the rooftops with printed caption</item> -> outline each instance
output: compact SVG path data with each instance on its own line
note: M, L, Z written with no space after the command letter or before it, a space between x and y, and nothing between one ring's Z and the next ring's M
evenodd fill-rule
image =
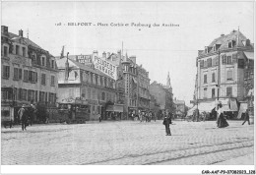
M124 54L136 55L137 64L149 71L151 83L165 85L169 72L173 96L188 106L193 99L198 50L238 27L254 43L253 1L2 2L1 8L2 26L16 34L23 29L24 36L29 29L30 39L54 56L60 55L62 45L65 54L71 55L94 50L116 53L123 42ZM111 23L124 26L111 27Z

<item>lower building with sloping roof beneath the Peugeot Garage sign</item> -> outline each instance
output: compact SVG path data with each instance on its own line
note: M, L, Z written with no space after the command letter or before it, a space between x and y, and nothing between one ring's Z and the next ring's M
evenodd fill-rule
M90 120L97 120L97 114L100 114L103 120L107 119L107 105L113 105L117 101L115 81L96 70L94 64L88 66L64 57L57 60L57 65L58 102L79 100L87 105Z

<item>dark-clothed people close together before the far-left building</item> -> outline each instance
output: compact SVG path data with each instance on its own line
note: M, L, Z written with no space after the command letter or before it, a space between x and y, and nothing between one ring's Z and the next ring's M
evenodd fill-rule
M36 109L33 104L26 106L25 104L18 111L18 120L22 124L22 130L27 130L27 126L31 124L35 115Z

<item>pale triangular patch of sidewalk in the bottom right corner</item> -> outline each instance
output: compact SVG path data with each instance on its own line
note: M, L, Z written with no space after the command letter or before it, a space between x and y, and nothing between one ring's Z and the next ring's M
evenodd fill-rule
M253 162L253 163L252 163ZM231 158L214 165L254 165L254 153L250 153L244 156L238 156L236 158Z

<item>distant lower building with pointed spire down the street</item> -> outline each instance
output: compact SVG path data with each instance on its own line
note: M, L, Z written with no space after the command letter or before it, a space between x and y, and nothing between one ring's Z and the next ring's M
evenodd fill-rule
M173 94L172 87L170 86L169 74L167 76L167 84L163 86L156 81L150 85L150 93L155 96L157 102L160 104L160 110L173 112Z

